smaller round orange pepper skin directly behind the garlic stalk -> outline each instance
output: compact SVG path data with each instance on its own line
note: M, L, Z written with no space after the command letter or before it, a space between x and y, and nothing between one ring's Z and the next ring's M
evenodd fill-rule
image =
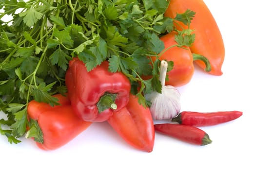
M165 82L165 85L182 86L188 84L194 74L193 55L189 47L184 46L187 50L180 47L172 47L177 45L175 35L175 32L171 32L160 37L165 48L160 52L159 59L174 62L173 69L167 72L169 80ZM167 48L169 49L165 51Z

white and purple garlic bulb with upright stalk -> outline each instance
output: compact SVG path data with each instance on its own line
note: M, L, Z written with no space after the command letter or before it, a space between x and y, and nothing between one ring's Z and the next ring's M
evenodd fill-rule
M150 111L155 120L172 119L180 111L180 93L172 85L165 85L165 77L168 63L161 61L159 80L162 85L161 94L154 91L145 96L146 100L152 102Z

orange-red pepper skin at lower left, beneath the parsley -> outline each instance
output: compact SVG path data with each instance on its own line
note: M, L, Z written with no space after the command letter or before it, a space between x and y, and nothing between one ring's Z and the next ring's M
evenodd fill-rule
M43 133L43 143L36 142L42 150L60 148L92 124L75 115L68 97L61 94L54 95L54 97L59 99L60 105L50 106L47 103L36 101L28 103L28 119L37 120Z

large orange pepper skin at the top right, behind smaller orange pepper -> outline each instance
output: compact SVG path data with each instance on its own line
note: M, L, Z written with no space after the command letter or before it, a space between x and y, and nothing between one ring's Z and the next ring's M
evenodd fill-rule
M203 0L170 0L165 17L176 17L177 13L184 13L187 9L196 12L195 17L191 21L190 29L195 30L196 40L190 47L192 53L205 56L210 64L213 75L222 75L221 67L225 57L225 47L222 35L217 26L217 22L206 6ZM181 22L177 23L182 28L187 29L188 26ZM177 28L180 28L177 25ZM182 30L180 28L180 30ZM197 60L195 63L200 68L205 68L205 64Z

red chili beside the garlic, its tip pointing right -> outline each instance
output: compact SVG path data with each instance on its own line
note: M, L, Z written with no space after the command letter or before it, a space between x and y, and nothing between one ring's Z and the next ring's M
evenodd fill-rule
M240 111L226 111L226 112L190 112L183 111L173 118L179 124L191 126L210 126L225 123L242 116Z

